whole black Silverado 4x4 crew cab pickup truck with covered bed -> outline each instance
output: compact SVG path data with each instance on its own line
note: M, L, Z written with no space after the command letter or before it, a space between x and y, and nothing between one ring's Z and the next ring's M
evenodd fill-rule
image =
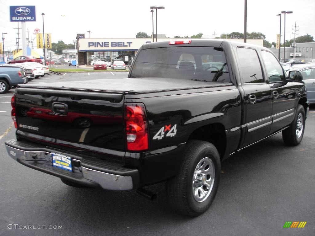
M301 73L267 48L197 39L143 45L125 79L19 85L11 101L14 160L149 198L145 186L167 181L188 216L211 205L222 160L281 131L298 145L309 110Z

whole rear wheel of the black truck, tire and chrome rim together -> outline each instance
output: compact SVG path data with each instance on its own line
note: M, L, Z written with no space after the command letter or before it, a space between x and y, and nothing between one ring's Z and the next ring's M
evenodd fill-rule
M215 198L220 174L220 156L215 146L189 141L177 175L166 183L170 207L186 216L203 214Z

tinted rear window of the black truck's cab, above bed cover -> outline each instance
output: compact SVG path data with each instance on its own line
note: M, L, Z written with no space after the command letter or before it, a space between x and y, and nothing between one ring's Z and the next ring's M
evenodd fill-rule
M231 82L224 51L222 48L215 47L169 47L141 50L130 77Z

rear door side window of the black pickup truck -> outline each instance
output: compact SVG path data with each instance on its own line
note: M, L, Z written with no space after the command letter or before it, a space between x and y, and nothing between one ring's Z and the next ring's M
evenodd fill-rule
M251 48L237 48L237 53L243 82L264 82L256 50Z

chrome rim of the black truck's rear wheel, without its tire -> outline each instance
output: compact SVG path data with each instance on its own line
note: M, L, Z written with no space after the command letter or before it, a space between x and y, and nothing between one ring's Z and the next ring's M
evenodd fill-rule
M215 166L209 157L199 161L192 176L192 194L197 202L209 197L215 182Z

